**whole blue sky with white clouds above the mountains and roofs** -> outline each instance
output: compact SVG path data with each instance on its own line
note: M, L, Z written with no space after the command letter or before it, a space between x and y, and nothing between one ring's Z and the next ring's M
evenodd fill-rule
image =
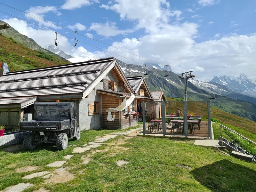
M28 0L3 3L163 65L169 64L182 71L192 69L206 80L237 72L256 79L255 0ZM0 10L74 38L72 32L12 8L0 5ZM55 34L50 31L4 13L0 13L0 19L43 47L54 44ZM77 36L77 39L141 63L148 62L86 37ZM63 36L58 36L58 40L58 48L76 57L72 62L115 56L82 42L74 48L74 40Z

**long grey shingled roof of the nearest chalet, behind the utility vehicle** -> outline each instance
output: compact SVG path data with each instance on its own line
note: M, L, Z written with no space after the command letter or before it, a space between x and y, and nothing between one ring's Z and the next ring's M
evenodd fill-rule
M10 72L0 77L0 99L83 93L114 62L107 58Z

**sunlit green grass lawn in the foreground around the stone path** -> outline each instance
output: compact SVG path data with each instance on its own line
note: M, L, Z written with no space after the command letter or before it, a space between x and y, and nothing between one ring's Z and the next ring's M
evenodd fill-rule
M118 130L120 131L120 130ZM108 130L83 131L81 139L70 141L63 151L41 145L35 151L0 149L0 190L21 182L29 182L33 191L44 187L50 191L256 191L256 164L227 156L218 149L195 146L194 140L165 137L124 137L110 139L99 148L75 154L63 165L75 174L67 183L46 184L44 179L21 179L23 176L56 168L46 164L64 160L75 147L82 147ZM122 150L116 151L116 145ZM109 148L109 150L104 150ZM97 150L102 150L97 152ZM96 152L96 153L95 153ZM92 155L89 164L81 164L81 156ZM118 160L129 161L118 167ZM33 165L36 171L18 173L15 169Z

